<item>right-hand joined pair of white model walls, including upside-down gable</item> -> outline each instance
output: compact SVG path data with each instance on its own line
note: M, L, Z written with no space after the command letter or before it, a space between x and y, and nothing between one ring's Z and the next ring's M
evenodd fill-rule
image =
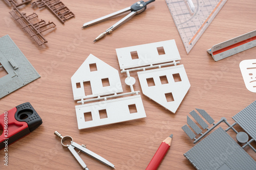
M117 48L116 53L121 72L142 70L137 74L143 94L177 111L190 83L184 66L178 65L181 58L175 40Z

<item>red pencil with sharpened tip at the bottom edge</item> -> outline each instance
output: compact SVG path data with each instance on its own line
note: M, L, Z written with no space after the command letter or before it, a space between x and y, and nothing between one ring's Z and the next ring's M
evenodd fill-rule
M160 147L158 148L157 152L153 156L150 164L147 165L145 170L156 170L159 164L161 163L164 155L167 153L168 149L170 148L170 143L172 143L173 134L169 137L164 139L161 143Z

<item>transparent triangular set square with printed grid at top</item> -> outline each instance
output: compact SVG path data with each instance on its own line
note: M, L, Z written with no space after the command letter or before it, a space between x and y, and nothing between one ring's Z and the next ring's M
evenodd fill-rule
M227 0L165 0L187 54Z

